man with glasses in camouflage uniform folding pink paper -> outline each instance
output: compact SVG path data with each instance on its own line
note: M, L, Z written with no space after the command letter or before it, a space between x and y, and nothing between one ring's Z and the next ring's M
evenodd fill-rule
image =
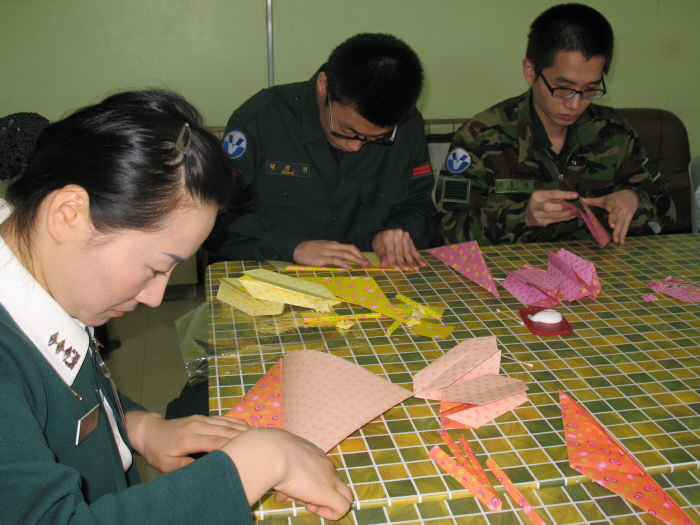
M605 94L612 49L610 24L590 7L554 6L533 22L523 60L531 89L472 118L452 141L435 244L591 239L572 210L579 200L620 243L673 223L667 183L637 134L591 104Z

